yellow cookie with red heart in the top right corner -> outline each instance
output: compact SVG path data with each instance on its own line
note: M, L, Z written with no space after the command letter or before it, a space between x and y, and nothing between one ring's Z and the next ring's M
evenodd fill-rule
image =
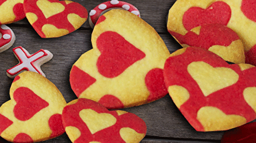
M169 10L167 29L186 35L203 24L222 24L236 32L243 42L245 63L256 65L256 18L254 0L179 0Z

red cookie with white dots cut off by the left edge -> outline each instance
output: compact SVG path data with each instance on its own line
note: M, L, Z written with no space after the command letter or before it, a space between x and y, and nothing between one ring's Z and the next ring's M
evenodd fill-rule
M0 27L0 53L9 49L15 42L15 35L6 25Z

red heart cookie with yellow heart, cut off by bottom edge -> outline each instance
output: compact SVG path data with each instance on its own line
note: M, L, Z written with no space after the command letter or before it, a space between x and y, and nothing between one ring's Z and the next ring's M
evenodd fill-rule
M133 113L109 111L99 103L79 98L62 112L63 126L72 142L140 142L146 124Z

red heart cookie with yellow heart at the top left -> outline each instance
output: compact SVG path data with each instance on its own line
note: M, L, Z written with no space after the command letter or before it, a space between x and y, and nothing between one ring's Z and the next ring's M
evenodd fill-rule
M30 24L42 38L67 35L77 30L88 17L86 8L72 1L24 1Z

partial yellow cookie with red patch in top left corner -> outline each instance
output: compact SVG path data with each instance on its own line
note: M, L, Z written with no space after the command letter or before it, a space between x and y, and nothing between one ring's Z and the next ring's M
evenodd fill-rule
M25 18L23 0L2 0L0 2L0 25L9 24Z

